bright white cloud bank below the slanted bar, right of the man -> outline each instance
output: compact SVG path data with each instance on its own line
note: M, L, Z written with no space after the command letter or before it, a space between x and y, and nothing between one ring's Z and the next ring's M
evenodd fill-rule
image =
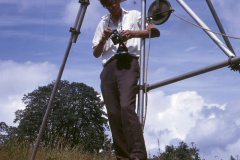
M147 150L157 155L165 145L180 141L197 144L201 158L229 158L240 147L239 101L232 104L206 104L195 91L165 95L162 91L149 93L145 126ZM221 154L220 154L221 153ZM224 154L223 154L224 153Z

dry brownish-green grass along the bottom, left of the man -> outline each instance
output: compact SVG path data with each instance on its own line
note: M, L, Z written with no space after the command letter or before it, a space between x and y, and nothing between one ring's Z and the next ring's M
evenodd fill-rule
M34 145L26 141L18 142L11 140L0 143L0 160L29 160ZM54 148L40 146L35 160L116 160L115 155L110 152L88 153L81 149L81 146L70 148L68 145L61 147L58 143Z

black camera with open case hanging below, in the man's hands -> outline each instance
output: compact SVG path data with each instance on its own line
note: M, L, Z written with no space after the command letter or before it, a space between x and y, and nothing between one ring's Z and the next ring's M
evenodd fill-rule
M118 32L117 29L114 29L112 31L113 35L111 36L111 40L112 40L114 45L119 44L118 50L117 50L118 55L128 55L129 54L128 49L125 46L125 44L123 43L123 40L126 37L121 37L120 36L122 32L123 31Z

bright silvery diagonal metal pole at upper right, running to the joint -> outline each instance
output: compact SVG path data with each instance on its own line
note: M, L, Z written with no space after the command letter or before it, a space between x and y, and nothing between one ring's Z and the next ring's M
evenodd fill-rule
M186 10L186 12L195 20L195 22L198 25L202 26L203 28L209 29L208 26L193 12L193 10L183 0L177 0L177 2ZM215 34L206 30L204 31L228 57L235 57L235 55L225 46L225 44Z

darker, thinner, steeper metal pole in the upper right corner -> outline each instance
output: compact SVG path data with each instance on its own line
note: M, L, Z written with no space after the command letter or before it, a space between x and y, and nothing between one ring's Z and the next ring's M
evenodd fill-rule
M211 12L212 12L212 15L213 15L213 17L214 17L214 19L215 19L215 21L216 21L216 23L217 23L217 25L218 25L218 28L219 28L220 32L221 32L222 34L226 34L226 32L225 32L225 30L224 30L224 28L223 28L223 26L222 26L222 23L220 22L220 20L219 20L219 18L218 18L218 15L217 15L217 13L216 13L213 5L212 5L211 0L206 0L206 2L207 2L208 7L210 8L210 10L211 10ZM228 47L228 48L233 52L233 54L236 56L236 54L235 54L235 52L234 52L234 50L233 50L233 48L232 48L232 45L231 45L228 37L223 36L223 39L224 39L227 47Z

